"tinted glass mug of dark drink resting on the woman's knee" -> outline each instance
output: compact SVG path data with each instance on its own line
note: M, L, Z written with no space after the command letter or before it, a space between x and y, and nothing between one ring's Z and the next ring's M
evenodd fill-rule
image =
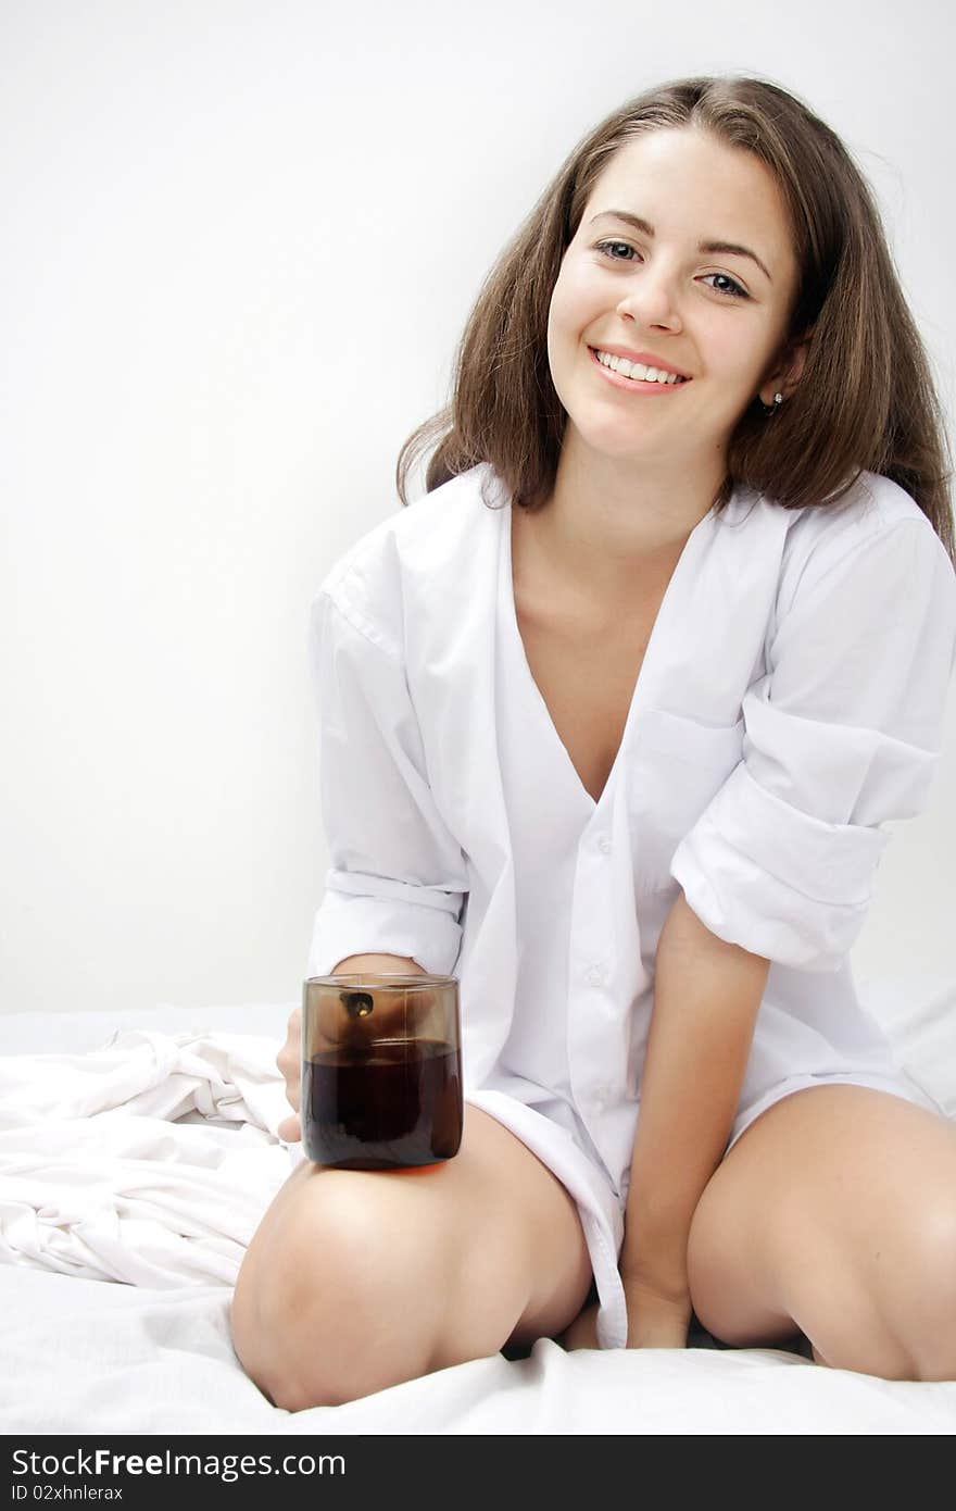
M302 1145L317 1165L408 1170L458 1154L458 978L310 976L301 1109Z

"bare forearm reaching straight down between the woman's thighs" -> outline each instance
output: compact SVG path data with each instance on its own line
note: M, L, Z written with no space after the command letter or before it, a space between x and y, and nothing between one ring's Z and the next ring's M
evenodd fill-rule
M657 944L619 1260L628 1333L642 1289L661 1304L689 1298L690 1222L726 1148L769 969L711 934L678 893Z

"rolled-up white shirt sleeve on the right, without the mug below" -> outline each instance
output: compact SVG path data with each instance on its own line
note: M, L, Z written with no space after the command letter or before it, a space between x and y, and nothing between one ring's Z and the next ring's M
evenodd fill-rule
M817 545L743 698L743 760L674 852L719 938L837 970L862 929L891 819L929 802L956 662L956 574L927 520L828 564Z

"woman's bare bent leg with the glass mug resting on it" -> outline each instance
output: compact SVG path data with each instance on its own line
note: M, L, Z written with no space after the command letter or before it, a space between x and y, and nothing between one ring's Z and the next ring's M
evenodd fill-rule
M316 1313L319 1331L335 1325L335 1293L338 1315L350 1309L355 1345L361 1328L379 1336L390 1318L408 1328L397 1383L560 1333L591 1278L566 1188L509 1129L465 1103L459 1153L441 1165L350 1171L304 1160L293 1171L243 1260L233 1339L254 1380L275 1378L276 1355L322 1280L331 1304L328 1319ZM361 1352L355 1345L346 1352Z

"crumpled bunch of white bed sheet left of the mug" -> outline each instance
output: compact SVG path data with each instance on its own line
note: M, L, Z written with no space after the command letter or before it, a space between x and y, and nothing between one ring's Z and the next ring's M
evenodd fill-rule
M233 1286L290 1173L275 1055L251 1034L125 1029L0 1058L0 1263Z

